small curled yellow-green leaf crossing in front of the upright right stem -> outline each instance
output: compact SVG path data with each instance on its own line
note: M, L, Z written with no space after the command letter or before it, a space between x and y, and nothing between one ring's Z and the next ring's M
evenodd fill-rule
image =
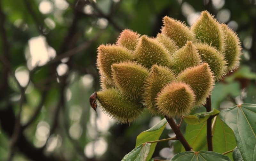
M210 116L218 115L219 113L220 113L219 110L213 109L210 112L206 112L206 113L202 113L202 114L198 114L198 115L184 116L184 121L187 124L196 125L196 124L200 124L200 123L206 121L207 119L209 119Z

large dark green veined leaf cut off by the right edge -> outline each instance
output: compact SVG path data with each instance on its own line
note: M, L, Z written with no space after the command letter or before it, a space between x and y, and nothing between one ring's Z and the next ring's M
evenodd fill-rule
M220 112L220 119L230 127L244 161L256 159L256 105L241 104Z

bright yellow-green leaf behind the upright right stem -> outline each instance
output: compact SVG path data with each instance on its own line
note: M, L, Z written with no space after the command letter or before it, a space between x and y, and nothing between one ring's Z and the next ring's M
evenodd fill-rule
M225 125L220 117L212 119L212 144L213 150L217 153L224 153L232 150L236 147L235 136L227 125ZM187 125L185 139L189 145L193 147L194 151L207 150L207 139L206 139L206 122L197 125ZM182 147L181 151L185 151ZM226 154L232 158L232 154Z

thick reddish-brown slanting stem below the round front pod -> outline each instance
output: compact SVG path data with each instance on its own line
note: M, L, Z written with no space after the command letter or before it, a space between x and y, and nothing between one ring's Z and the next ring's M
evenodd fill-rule
M180 128L177 126L175 121L172 118L168 118L165 116L165 119L169 123L169 125L172 128L172 131L176 134L176 137L179 139L183 147L185 148L186 151L191 151L192 147L188 144L187 140L184 138L183 134L180 131Z

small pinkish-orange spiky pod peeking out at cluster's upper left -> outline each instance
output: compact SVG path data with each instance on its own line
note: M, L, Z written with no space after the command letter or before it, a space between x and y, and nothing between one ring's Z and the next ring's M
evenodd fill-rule
M119 35L116 44L127 48L128 50L135 50L137 43L139 42L140 34L133 32L130 29L125 29Z

